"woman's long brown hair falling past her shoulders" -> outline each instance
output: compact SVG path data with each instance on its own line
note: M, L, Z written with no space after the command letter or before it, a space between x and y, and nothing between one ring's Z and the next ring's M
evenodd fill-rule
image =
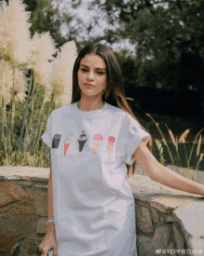
M136 117L134 116L134 113L129 106L128 102L125 99L125 93L124 88L122 84L122 78L121 78L121 68L119 65L119 62L115 56L115 54L112 52L112 50L104 45L101 44L95 44L95 45L88 45L82 49L82 51L79 53L74 66L73 66L73 75L72 75L72 98L71 103L80 101L81 98L81 89L78 85L78 70L80 67L80 62L83 59L83 57L86 54L94 53L98 56L100 56L106 63L107 66L107 88L105 93L103 94L103 101L108 102L109 104L119 107L123 109L125 112L127 112L129 115L132 115L134 119L138 122ZM142 129L147 131L146 128L144 128L139 122L138 124ZM151 138L150 138L151 140ZM150 141L147 142L147 148L152 153L152 146ZM136 161L134 161L133 165L127 165L127 176L130 178L130 171L132 169L132 174L134 176L135 168L136 168Z

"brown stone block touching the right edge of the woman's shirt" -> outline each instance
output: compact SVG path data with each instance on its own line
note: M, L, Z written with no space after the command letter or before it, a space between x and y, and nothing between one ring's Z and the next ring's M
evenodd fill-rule
M136 205L136 225L144 233L153 232L149 211L140 205Z

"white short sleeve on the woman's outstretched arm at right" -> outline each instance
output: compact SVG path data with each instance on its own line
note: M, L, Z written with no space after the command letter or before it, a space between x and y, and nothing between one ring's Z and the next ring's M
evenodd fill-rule
M150 134L147 133L144 129L142 129L139 123L131 116L128 117L128 133L124 144L124 151L125 151L125 163L128 165L133 165L135 159L132 158L134 151L138 147L139 143L142 141L143 138L146 138L147 141L150 139Z

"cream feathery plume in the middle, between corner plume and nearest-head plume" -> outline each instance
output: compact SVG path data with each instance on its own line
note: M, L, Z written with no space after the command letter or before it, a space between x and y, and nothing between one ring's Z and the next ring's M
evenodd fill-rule
M32 36L32 55L29 68L33 68L35 81L42 85L49 83L52 72L52 56L57 52L56 43L49 32ZM48 61L49 60L49 61Z

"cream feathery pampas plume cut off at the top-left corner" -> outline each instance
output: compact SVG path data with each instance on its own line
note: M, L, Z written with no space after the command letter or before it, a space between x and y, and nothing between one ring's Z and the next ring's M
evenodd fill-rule
M0 7L0 53L8 54L11 61L25 63L28 61L32 42L28 22L31 12L25 11L26 5L21 0L3 0Z

